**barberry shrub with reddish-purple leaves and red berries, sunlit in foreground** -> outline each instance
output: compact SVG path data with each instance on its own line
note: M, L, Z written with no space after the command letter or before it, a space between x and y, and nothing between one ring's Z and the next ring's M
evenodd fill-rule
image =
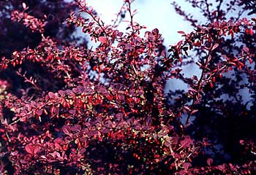
M256 172L252 137L239 140L241 160L222 162L207 152L217 149L207 136L209 123L197 123L197 117L208 121L233 106L218 99L221 85L231 80L227 71L251 70L255 52L244 44L229 54L220 50L228 52L222 43L244 32L255 37L255 18L214 20L189 34L179 31L184 39L165 50L157 28L142 34L146 27L133 20L131 4L125 0L118 13L116 21L123 18L122 10L130 18L127 30L118 31L116 23L103 23L85 1L75 1L79 10L64 25L89 34L99 44L91 49L46 36L45 18L29 14L26 3L23 10L12 12L12 21L41 34L41 41L1 58L1 71L23 78L20 93L12 90L12 81L0 81L1 174ZM184 77L181 71L192 50L199 50L200 77ZM181 79L189 90L164 93L168 79ZM253 85L255 79L246 87L252 90ZM203 126L202 138L196 132Z

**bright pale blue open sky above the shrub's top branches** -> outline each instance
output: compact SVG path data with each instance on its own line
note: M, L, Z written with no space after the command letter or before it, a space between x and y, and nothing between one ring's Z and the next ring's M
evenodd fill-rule
M116 19L123 0L87 0L87 4L93 7L100 15L105 23L111 23ZM162 36L165 38L165 45L175 44L181 40L181 35L177 31L192 31L189 23L184 22L181 16L177 15L170 0L135 0L132 3L132 10L137 9L138 14L134 20L140 25L146 26L147 30L158 28ZM184 9L191 9L189 3L179 0ZM129 18L127 18L129 20ZM127 23L122 23L118 28L124 31Z

